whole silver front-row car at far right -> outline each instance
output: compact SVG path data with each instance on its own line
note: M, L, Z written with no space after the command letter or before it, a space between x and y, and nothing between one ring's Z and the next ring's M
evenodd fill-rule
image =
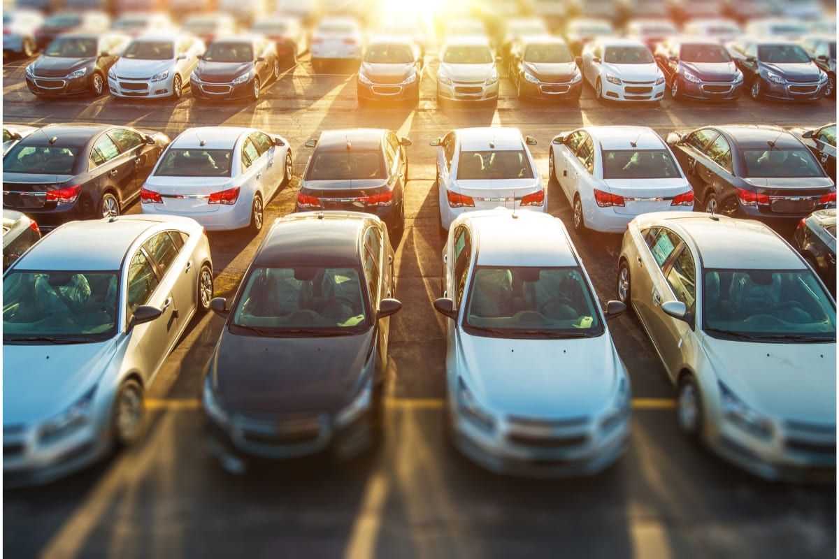
M618 298L677 387L680 429L767 479L836 479L836 302L769 227L639 215Z

